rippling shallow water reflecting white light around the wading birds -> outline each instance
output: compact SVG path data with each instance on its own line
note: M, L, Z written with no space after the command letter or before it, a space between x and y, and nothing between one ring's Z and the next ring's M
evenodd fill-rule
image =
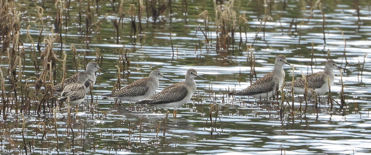
M22 62L25 65L24 77L22 77L24 81L31 76L37 76L32 65L33 52L30 50L32 44L27 40L26 33L27 26L31 25L29 33L33 40L37 41L40 23L35 19L37 16L35 6L41 6L41 2L17 1L16 3L22 4L21 10L23 10L20 40L25 47L24 62ZM68 115L64 105L61 109L57 109L56 113L47 106L39 113L35 111L35 107L30 108L29 113L23 113L26 120L24 134L22 134L23 121L20 113L15 109L2 107L1 154L19 154L20 150L25 154L23 136L28 153L36 154L72 154L73 152L78 154L230 154L232 152L235 154L368 154L371 152L369 111L371 55L366 55L370 52L370 2L359 1L362 22L359 23L353 2L322 1L326 16L325 44L321 11L315 8L313 17L308 23L311 6L305 1L287 4L283 4L283 1L269 3L267 13L273 20L265 23L264 30L260 30L255 41L260 20L264 17L263 4L254 1L236 1L234 10L237 17L246 13L249 22L246 24L246 33L243 30L242 33L235 34L236 43L226 57L215 50L214 41L217 34L212 29L213 25L210 24L212 30L209 36L213 42L210 46L205 44L204 35L197 28L196 18L201 28L205 29L203 20L198 19L197 15L206 9L209 10L211 22L214 22L213 4L210 1L188 1L187 17L182 13L184 6L181 1L173 1L173 16L169 15L170 11L167 9L157 22L152 22L151 18L147 20L147 14L144 13L142 36L138 36L138 32L133 36L131 19L126 14L124 26L120 27L118 43L116 43L116 32L113 26L118 2L115 4L114 14L109 13L112 11L109 3L100 2L99 13L95 11L95 5L91 4L94 22L103 20L98 24L99 28L96 26L92 28L92 31L96 32L89 34L88 37L79 33L78 2L71 1L71 3L68 29L66 31L63 26L62 31L62 47L68 55L66 64L68 76L76 73L73 52L70 50L71 44L75 45L79 54L78 70L84 70L84 64L98 60L95 50L99 48L103 57L101 67L111 73L97 73L97 82L92 91L93 100L89 96L84 102L85 106L80 106L77 113L73 109L71 117L73 132L67 126ZM86 3L84 4L87 6ZM125 2L123 6L126 11L129 3ZM45 8L49 9L44 10L43 35L52 34L50 26L53 26L56 11L53 3L46 3ZM104 19L106 14L107 17ZM84 12L83 20L85 16ZM343 36L335 28L344 32L347 44L345 49ZM85 25L82 29L85 29ZM241 48L239 48L240 36L243 41ZM280 105L281 102L276 101L266 103L248 97L227 96L228 90L242 90L250 85L250 66L246 52L248 44L253 44L257 78L272 71L275 57L284 54L288 62L295 66L294 72L291 67L284 66L288 82L292 80L292 72L295 77L301 77L302 73L322 71L328 55L339 66L344 67L345 50L349 63L346 66L349 70L342 73L346 106L341 109L339 104L334 103L331 110L326 96L321 98L318 105L313 102L306 104L302 101L302 96L296 96L295 103L289 99L289 102L283 103L283 107ZM165 76L175 81L160 79L159 92L168 85L184 80L185 72L189 68L196 69L199 75L209 81L196 79L197 91L191 101L178 108L177 119L172 118L172 109L138 107L126 101L102 100L101 95L111 92L117 80L118 70L115 65L121 66L121 71L124 69L121 60L118 60L121 55L119 50L122 47L131 50L128 54L131 64L129 67L125 65L125 70L121 73L121 78L126 83L148 76L153 69L160 69ZM45 46L42 46L43 48ZM53 49L59 58L63 59L60 40L54 44ZM312 49L315 59L312 59ZM37 60L43 62L39 55ZM8 67L7 55L3 54L0 68L4 77L9 75ZM56 62L56 70L55 82L59 83L63 77L62 62ZM336 71L335 75L336 80L331 87L331 95L340 103L340 72ZM255 77L252 81L255 81ZM6 78L5 84L6 90L10 91L9 79ZM283 116L280 115L280 108L285 108ZM210 123L210 116L213 123ZM40 122L45 123L44 136L44 130L37 128ZM44 127L43 124L40 125L41 128Z

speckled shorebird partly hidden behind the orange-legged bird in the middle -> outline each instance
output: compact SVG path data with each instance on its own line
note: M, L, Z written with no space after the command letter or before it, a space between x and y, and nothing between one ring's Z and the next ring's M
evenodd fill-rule
M158 88L158 79L160 78L170 79L162 75L160 70L152 70L150 76L136 80L118 91L106 94L103 99L121 99L138 102L140 99L147 98L156 92Z

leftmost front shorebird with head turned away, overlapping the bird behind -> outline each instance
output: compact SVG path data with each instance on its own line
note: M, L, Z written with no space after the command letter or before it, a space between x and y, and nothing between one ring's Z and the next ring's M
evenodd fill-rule
M86 86L84 84L86 81L92 81L88 79L88 75L85 72L79 72L77 75L77 82L71 83L63 89L60 98L58 98L60 102L67 102L69 98L70 105L79 105L84 101L86 95Z

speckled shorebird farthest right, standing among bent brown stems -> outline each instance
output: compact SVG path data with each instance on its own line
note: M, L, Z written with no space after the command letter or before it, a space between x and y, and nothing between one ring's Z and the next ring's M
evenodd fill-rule
M328 60L325 65L325 71L305 76L306 82L308 83L308 88L314 90L317 96L325 95L325 93L329 90L329 84L330 88L334 84L335 80L334 69L345 68L336 65L336 62L334 60ZM329 82L328 78L330 80ZM285 85L285 88L291 89L291 86L293 86L293 90L295 93L304 94L305 80L303 78L294 80L294 85L292 85L292 82L287 83ZM311 90L307 91L308 91L307 96L311 97L312 96Z

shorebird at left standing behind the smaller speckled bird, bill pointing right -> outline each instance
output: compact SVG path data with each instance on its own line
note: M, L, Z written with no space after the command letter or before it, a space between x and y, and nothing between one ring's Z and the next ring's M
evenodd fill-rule
M98 63L96 62L89 62L88 65L86 65L86 70L85 70L85 73L88 75L88 81L85 82L85 93L89 93L90 92L90 85L92 83L92 86L94 86L95 84L95 72L98 71L98 70L102 70L104 72L108 72L107 70L104 70L104 69L101 69L99 66L98 66ZM109 72L108 72L109 73ZM76 83L77 80L78 80L78 77L79 77L79 73L76 73L75 75L72 75L70 76L68 79L65 79L65 83L64 83L64 86L67 86L71 83ZM62 92L62 83L59 83L58 85L55 85L54 86L54 89L60 93Z

